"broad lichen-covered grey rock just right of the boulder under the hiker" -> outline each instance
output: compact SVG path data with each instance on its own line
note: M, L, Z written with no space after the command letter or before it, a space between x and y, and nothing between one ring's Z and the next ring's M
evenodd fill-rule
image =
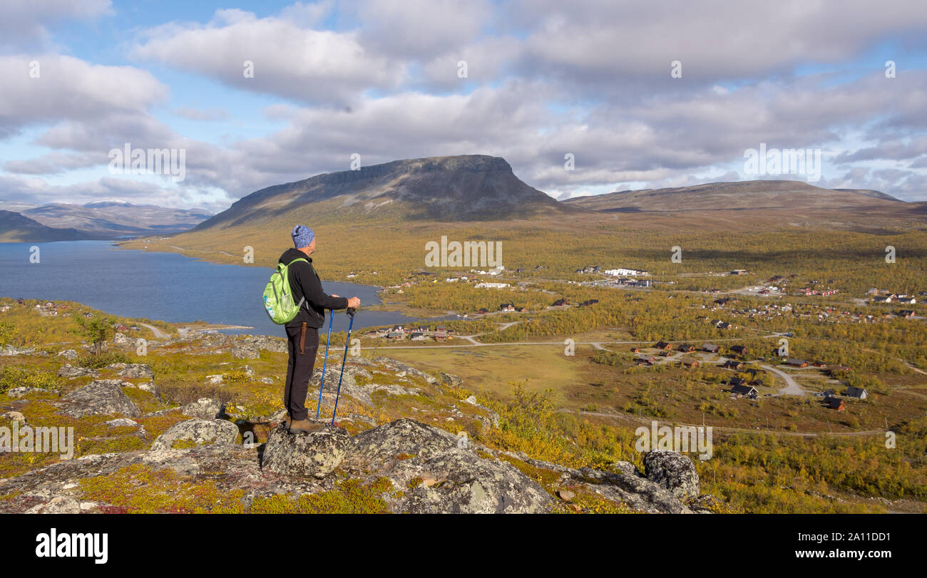
M389 478L404 492L398 511L543 512L553 501L511 464L482 458L466 438L413 420L392 421L354 436L341 469Z

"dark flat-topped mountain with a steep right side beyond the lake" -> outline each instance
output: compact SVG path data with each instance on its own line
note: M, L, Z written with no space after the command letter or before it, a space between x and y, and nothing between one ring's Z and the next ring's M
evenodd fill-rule
M456 221L577 212L583 211L519 180L503 158L464 155L395 160L274 185L239 199L196 230L285 217L289 222L307 214Z

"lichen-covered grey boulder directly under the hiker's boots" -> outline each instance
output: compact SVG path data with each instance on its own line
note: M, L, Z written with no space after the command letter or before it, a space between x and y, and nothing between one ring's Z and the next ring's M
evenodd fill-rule
M260 465L275 473L321 479L338 467L349 445L344 428L326 424L309 433L289 433L280 424L267 439Z

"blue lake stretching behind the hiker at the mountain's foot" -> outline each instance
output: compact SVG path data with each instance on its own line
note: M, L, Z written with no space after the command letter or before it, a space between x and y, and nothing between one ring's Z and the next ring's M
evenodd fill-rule
M31 247L39 247L32 263ZM285 248L285 247L283 247ZM283 253L281 248L281 253ZM325 293L361 298L354 329L408 323L401 313L364 310L379 304L378 287L326 282ZM223 333L284 334L267 318L261 295L273 270L216 265L172 253L115 248L108 241L0 243L0 296L48 301L68 300L122 317L242 325L253 329ZM335 312L332 331L347 331L349 317ZM323 331L327 331L327 320Z

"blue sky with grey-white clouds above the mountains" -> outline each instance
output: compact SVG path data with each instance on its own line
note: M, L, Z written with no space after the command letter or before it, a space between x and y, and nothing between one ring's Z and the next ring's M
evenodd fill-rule
M219 211L355 154L589 195L757 178L761 144L927 200L923 0L4 0L0 76L0 199L32 205ZM184 180L112 170L126 144Z

